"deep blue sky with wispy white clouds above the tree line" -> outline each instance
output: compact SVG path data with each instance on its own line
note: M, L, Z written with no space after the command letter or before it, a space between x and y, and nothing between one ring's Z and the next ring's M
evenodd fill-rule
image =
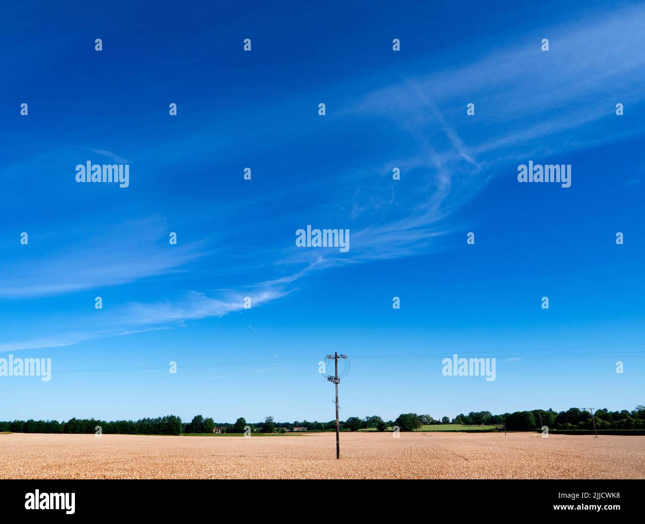
M535 4L5 7L0 419L328 421L334 350L343 419L644 403L645 5Z

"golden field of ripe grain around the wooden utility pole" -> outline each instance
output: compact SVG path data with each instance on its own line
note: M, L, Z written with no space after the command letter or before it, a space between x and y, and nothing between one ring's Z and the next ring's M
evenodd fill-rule
M0 478L645 478L645 436L0 436Z

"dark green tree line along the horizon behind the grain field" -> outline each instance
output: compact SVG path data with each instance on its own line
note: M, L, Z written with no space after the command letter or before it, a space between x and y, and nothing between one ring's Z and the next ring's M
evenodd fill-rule
M461 425L493 425L505 426L510 431L533 431L546 426L550 429L593 429L593 422L598 429L645 429L645 407L637 406L634 410L610 411L606 408L596 410L594 419L591 418L589 410L581 408L570 408L566 411L555 412L535 409L529 411L516 411L493 415L490 411L471 411L460 413L450 420L447 416L441 419L433 419L430 415L417 415L416 413L402 413L395 420L384 421L378 415L364 418L350 417L339 423L343 431L358 431L361 429L375 429L386 431L398 426L401 431L418 430L424 425L433 424L461 424ZM283 433L292 431L293 428L305 428L308 431L330 431L335 430L336 421L329 422L277 422L272 416L257 423L247 423L243 417L238 418L234 423L216 423L212 418L204 418L195 415L190 422L182 422L181 418L175 415L166 415L157 418L143 418L137 421L116 420L103 421L97 419L77 419L59 422L57 420L14 420L0 421L0 432L14 433L96 433L100 431L106 434L125 435L180 435L212 433L213 428L219 427L224 433L240 434L246 428L251 432Z

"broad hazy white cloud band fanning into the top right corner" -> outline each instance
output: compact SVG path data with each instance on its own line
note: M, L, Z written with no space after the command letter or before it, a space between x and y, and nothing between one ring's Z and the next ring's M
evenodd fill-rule
M419 130L437 125L452 143L442 151L446 159L471 161L473 154L511 147L517 152L532 148L537 139L543 152L579 148L584 144L563 142L559 134L615 117L617 102L633 105L645 99L639 88L645 81L643 23L645 6L640 4L541 28L536 31L540 37L501 45L455 68L403 78L345 110ZM548 52L541 51L542 37L550 37ZM475 103L471 119L466 119L466 103ZM479 115L486 126L473 129ZM459 128L468 129L467 148L454 132ZM643 128L640 122L624 134L640 134ZM611 141L615 134L602 139Z

